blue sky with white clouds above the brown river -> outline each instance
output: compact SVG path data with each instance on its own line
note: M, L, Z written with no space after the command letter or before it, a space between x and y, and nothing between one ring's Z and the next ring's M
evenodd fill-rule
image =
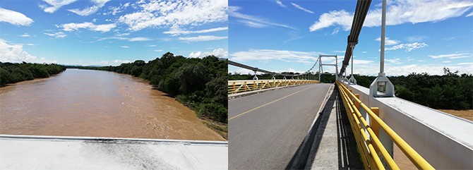
M228 56L228 2L2 0L0 61L119 65Z

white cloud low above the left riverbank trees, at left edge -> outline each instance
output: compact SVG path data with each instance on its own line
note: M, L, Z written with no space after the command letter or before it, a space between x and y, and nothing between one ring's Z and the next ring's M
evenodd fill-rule
M32 56L23 49L20 44L8 44L6 40L0 39L0 61L20 63L22 61L31 63L57 63L56 61L49 61L44 57Z

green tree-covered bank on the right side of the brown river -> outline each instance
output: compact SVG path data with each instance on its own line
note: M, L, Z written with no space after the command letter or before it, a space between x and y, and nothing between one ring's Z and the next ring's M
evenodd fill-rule
M148 63L137 60L120 66L67 67L114 71L149 80L157 90L176 97L198 116L227 123L227 63L216 56L194 59L167 52Z

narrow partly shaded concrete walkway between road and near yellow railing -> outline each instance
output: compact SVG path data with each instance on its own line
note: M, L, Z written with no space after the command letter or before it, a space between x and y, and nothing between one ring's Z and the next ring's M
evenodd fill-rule
M364 169L336 87L318 119L305 169Z

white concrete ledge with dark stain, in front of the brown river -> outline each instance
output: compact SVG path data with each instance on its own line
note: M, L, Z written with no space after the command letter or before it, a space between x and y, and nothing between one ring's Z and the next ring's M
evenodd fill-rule
M228 142L0 135L0 169L228 169Z

